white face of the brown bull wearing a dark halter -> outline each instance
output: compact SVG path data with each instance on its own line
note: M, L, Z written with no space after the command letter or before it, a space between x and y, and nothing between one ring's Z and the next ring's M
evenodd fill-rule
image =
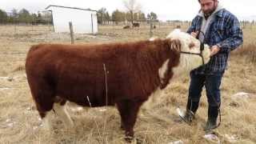
M198 39L192 37L190 34L181 32L181 30L175 29L167 38L178 39L181 42L181 51L190 52L195 54L181 54L180 63L177 67L174 67L174 75L177 76L184 72L190 72L198 66L202 66L202 57L204 62L210 61L210 48L208 45L204 46L202 51L202 57L196 54L200 54L200 42Z

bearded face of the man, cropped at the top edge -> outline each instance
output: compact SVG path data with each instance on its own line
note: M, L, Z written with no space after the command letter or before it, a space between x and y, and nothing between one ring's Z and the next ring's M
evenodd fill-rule
M217 0L200 0L202 12L204 14L211 14L217 7Z

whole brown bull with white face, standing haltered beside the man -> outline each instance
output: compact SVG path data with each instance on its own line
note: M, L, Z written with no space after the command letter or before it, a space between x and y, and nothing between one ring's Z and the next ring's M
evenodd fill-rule
M165 39L90 45L39 44L26 58L26 75L38 112L50 126L54 110L67 127L74 126L66 112L67 101L81 106L114 106L121 115L126 136L143 102L163 89L175 73L202 65L200 43L189 34L174 31ZM202 51L210 59L208 47Z

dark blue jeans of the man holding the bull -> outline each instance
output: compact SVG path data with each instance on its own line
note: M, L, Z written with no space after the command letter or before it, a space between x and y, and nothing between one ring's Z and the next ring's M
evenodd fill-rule
M194 113L198 110L198 103L201 98L202 87L206 87L206 96L209 104L209 114L218 117L218 106L221 103L220 85L224 72L214 72L211 74L195 74L190 72L189 98L186 108ZM217 115L216 115L217 114Z

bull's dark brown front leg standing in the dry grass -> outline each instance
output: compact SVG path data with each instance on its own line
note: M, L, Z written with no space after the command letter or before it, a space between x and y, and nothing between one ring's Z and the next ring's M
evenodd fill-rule
M121 127L126 131L126 137L134 137L134 124L142 101L122 100L117 102L118 111L121 116Z

